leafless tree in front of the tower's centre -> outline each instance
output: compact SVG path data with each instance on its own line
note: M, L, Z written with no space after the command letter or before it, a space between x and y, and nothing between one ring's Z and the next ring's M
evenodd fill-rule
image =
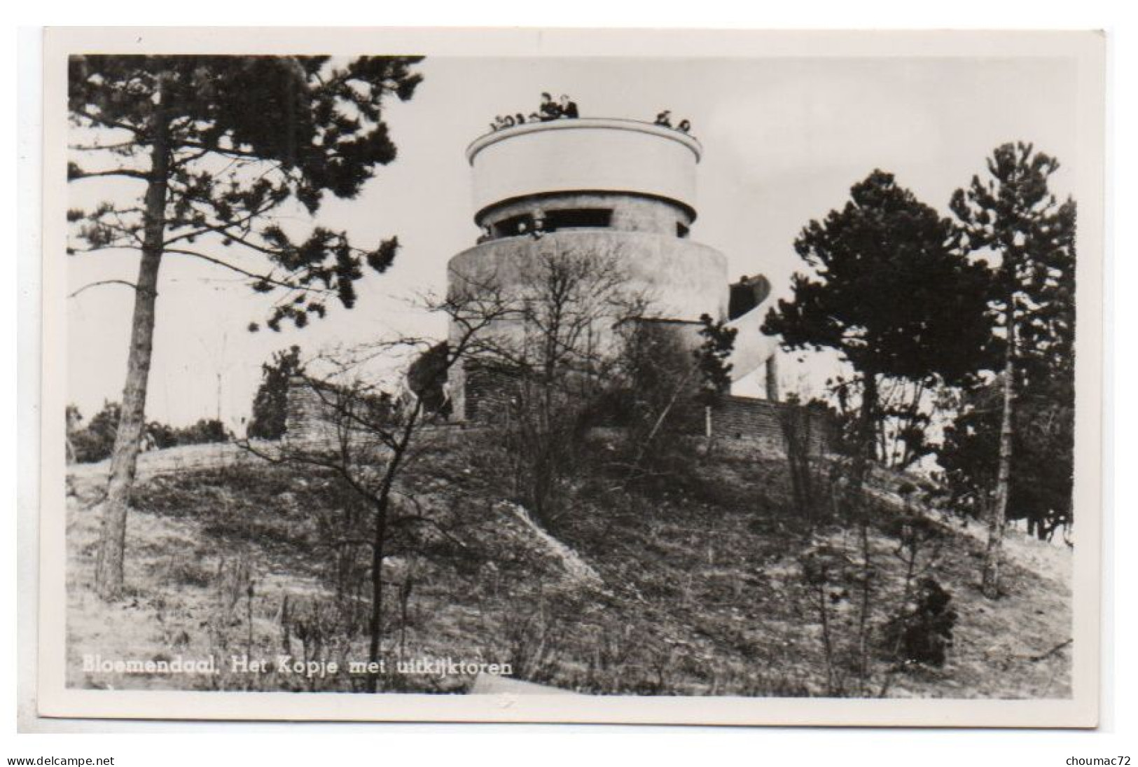
M626 331L649 319L649 299L630 287L619 248L552 240L535 247L509 283L490 278L511 308L467 362L495 402L514 490L545 525L561 512L561 486L584 438L625 381Z

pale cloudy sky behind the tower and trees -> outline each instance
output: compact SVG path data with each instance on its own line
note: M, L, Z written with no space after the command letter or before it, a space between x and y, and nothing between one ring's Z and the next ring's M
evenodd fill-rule
M393 267L357 283L351 311L330 305L327 319L303 330L250 333L249 322L266 316L264 296L215 266L166 256L149 420L182 426L220 415L244 434L261 365L278 349L296 344L312 355L393 333L443 337L440 319L415 303L442 292L447 261L478 236L464 149L495 115L535 110L542 91L570 94L584 117L651 121L668 108L674 119L688 118L704 150L691 237L725 254L731 279L766 274L772 300L787 296L791 274L802 269L798 232L841 207L875 168L948 215L953 191L982 173L1003 142L1031 141L1058 157L1053 185L1063 195L1079 167L1070 59L435 57L419 72L414 98L386 110L396 160L355 199L330 199L318 214L361 246L397 236L403 247ZM72 205L130 193L83 183ZM72 256L68 292L132 280L137 259L133 251ZM107 284L68 299L68 401L86 418L121 397L132 298L129 288ZM784 387L805 395L832 372L831 358L809 354L782 365Z

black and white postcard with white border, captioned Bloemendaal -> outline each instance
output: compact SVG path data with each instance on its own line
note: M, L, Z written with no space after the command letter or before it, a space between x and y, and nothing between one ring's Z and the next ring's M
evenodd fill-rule
M264 34L48 41L42 715L1096 725L1099 36Z

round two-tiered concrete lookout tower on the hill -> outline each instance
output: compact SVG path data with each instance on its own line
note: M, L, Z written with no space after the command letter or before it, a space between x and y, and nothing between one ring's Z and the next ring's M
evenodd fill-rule
M686 133L630 119L555 119L480 137L467 159L483 236L451 258L452 286L477 279L509 289L536 247L615 253L630 287L651 296L654 315L694 338L701 314L728 319L728 297L737 303L723 254L688 238L702 151ZM749 308L733 320L741 330L735 379L773 354L758 331L758 307ZM459 372L452 396L461 419L467 407Z

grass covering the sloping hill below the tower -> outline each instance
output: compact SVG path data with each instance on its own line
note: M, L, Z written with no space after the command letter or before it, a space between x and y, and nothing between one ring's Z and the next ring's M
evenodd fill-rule
M447 516L457 543L428 541L420 553L398 553L386 566L391 663L417 657L504 662L517 677L599 694L833 692L801 558L819 546L856 551L859 539L853 529L810 529L798 519L782 462L693 459L701 462L694 470L636 490L615 490L619 483L604 465L592 467L551 531L600 575L594 586L568 577L503 506L498 483L478 470L480 460L483 447L460 442L437 454L429 472L406 478L420 502ZM353 558L337 560L325 545L329 526L358 510L332 478L249 462L143 478L127 528L131 593L113 604L90 589L101 478L86 473L73 485L69 684L361 688L360 678L344 674L249 675L223 662L282 652L341 663L366 657L365 578L352 569ZM882 505L867 529L881 584L869 618L876 627L899 603L904 579L893 517ZM948 660L897 670L875 650L872 690L888 679L890 696L1069 696L1070 648L1052 652L1071 636L1069 571L1038 572L1013 561L1007 594L989 601L978 587L980 542L953 525L941 533L933 572L959 613ZM407 584L404 610L399 586ZM856 600L838 592L830 599L848 646ZM213 655L221 673L89 674L81 667L89 653ZM382 682L388 690L464 692L472 677L388 674Z

